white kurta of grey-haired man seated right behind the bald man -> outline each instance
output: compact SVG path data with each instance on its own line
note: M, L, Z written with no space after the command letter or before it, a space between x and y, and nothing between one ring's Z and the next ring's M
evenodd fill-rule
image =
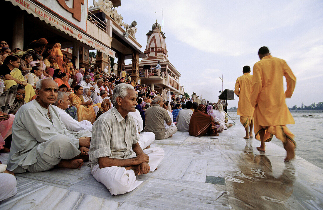
M88 120L82 120L82 121L77 121L73 119L65 110L62 110L61 108L54 106L61 119L62 123L64 123L66 129L69 131L75 132L75 131L80 131L80 130L92 130L92 124Z

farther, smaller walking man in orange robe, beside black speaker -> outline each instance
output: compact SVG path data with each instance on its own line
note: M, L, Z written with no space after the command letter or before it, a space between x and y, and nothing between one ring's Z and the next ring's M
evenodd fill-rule
M252 75L250 66L244 66L243 75L238 77L235 82L234 93L239 97L237 115L240 115L240 122L245 127L245 139L252 137L252 128L254 126L254 110L251 106L250 94L252 91ZM250 132L249 132L250 127Z

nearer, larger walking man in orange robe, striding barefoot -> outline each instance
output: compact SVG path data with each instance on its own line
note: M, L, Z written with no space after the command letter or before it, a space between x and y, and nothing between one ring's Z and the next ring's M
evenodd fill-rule
M265 142L271 141L275 135L283 142L287 151L285 161L289 161L295 157L296 144L294 134L285 125L295 124L295 121L287 108L285 98L292 96L296 77L286 61L271 56L267 47L261 47L258 55L260 61L254 65L251 92L251 104L255 107L255 134L261 141L257 149L265 152ZM285 93L283 76L287 82Z

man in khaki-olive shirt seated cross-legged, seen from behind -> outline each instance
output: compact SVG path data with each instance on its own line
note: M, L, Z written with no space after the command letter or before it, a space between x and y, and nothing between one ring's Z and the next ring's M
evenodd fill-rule
M176 126L165 128L164 121L167 125L172 125L172 119L167 111L162 108L164 102L160 96L156 96L152 101L152 105L145 111L146 132L153 132L156 139L165 139L176 133Z

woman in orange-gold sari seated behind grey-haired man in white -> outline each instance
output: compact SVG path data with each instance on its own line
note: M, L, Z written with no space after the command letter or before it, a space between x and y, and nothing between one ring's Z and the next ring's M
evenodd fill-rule
M83 99L83 87L76 85L74 88L74 93L68 96L69 101L73 106L78 109L78 121L89 120L92 124L95 121L95 112L93 106L93 101L84 101Z

